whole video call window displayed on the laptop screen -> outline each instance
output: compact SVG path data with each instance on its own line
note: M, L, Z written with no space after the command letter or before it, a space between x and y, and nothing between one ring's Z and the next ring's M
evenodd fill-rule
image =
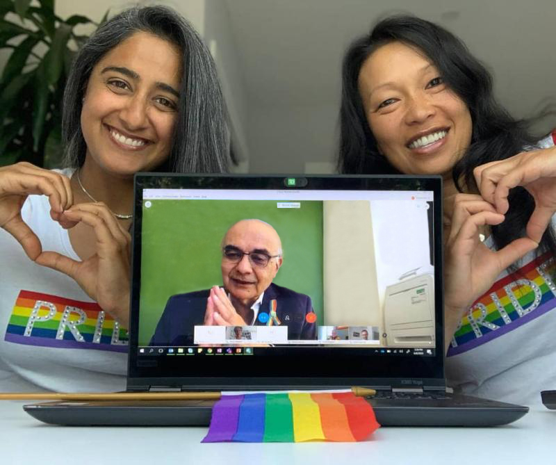
M140 345L435 347L432 192L149 191ZM238 222L270 225L278 242L243 250ZM261 276L252 321L204 325L212 286L233 300L227 282Z

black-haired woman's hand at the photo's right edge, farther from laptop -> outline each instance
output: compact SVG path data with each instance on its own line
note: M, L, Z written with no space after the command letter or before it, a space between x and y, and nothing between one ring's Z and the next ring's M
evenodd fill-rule
M498 213L508 211L511 188L523 186L533 196L535 209L527 225L529 238L539 243L556 212L556 147L522 152L473 170L482 197L496 206Z

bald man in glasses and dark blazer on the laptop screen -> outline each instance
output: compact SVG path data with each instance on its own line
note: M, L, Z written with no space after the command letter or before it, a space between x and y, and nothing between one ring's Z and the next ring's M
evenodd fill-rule
M195 325L287 325L288 339L316 339L311 297L272 283L284 259L275 229L241 220L222 239L223 287L172 295L151 345L192 345ZM309 318L306 316L311 313Z

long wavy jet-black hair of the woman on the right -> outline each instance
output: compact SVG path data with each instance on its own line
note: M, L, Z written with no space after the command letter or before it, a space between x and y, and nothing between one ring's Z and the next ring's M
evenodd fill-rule
M466 190L477 189L473 168L514 156L523 152L525 147L534 147L539 140L528 133L528 122L515 120L498 104L493 96L491 74L461 40L424 19L393 16L383 19L369 34L355 40L345 54L340 108L340 172L399 173L377 149L357 87L364 61L378 47L389 42L403 42L423 51L471 113L471 145L452 169L458 190L463 191L464 187ZM502 248L523 236L533 210L534 199L527 190L521 187L512 189L505 221L492 227L496 247ZM552 228L543 234L539 249L542 252L551 250L556 255L556 237Z

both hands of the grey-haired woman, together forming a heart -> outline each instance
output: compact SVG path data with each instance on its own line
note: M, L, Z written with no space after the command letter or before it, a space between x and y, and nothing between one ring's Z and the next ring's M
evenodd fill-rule
M44 252L21 215L31 194L49 198L52 220L65 229L80 222L91 227L96 253L76 261L57 252ZM30 163L17 163L0 168L0 227L17 239L31 260L72 277L101 309L128 326L131 236L104 203L74 204L68 177Z

